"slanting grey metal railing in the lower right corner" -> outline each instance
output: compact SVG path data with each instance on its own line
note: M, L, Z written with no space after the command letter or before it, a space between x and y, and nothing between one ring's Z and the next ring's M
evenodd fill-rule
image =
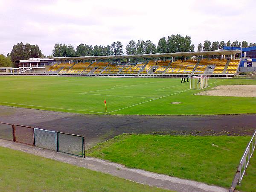
M244 154L240 160L236 175L233 179L232 185L229 192L233 192L236 189L237 184L241 184L241 180L244 177L247 166L249 165L250 158L253 156L253 151L256 146L256 130L251 138L249 144L247 145Z

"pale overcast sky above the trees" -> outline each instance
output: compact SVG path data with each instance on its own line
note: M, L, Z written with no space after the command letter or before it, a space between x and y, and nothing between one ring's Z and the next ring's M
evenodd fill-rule
M256 0L0 0L0 53L19 42L52 54L55 43L108 45L172 34L256 42ZM125 52L126 54L126 52Z

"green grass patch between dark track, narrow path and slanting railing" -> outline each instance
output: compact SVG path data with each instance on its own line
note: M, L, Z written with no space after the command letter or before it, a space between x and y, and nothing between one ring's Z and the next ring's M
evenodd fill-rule
M250 137L123 134L87 151L131 168L230 187Z

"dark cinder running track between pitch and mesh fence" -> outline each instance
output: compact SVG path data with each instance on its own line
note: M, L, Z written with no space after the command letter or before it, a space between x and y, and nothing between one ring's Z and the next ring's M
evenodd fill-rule
M82 135L88 149L122 133L252 135L256 129L256 114L86 115L0 106L0 122Z

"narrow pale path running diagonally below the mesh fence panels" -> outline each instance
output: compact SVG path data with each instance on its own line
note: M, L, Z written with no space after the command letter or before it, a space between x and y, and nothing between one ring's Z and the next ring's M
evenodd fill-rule
M6 140L0 140L0 146L12 148L14 150L23 151L30 154L35 154L53 160L58 160L64 163L69 163L94 171L108 173L113 176L135 181L137 183L157 186L177 192L227 192L227 189L219 186L207 185L205 183L200 183L192 180L185 180L177 177L170 177L168 175L147 172L141 169L129 169L121 164L111 163L93 157L73 157L71 155L61 154L56 151L36 148L33 146Z

